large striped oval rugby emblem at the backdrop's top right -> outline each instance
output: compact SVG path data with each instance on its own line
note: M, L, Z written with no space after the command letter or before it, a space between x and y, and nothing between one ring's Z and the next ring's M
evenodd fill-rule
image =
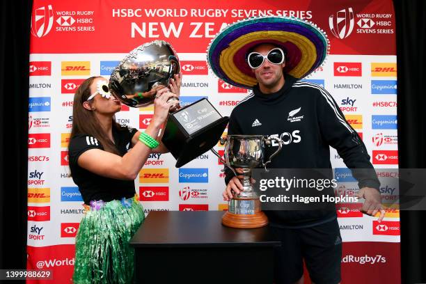
M340 40L347 38L354 29L354 10L346 8L338 11L336 15L330 15L329 26L336 38Z

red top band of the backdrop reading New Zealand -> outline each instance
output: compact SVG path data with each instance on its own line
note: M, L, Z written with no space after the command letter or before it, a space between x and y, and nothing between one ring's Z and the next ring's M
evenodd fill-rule
M221 26L258 15L315 22L331 54L395 54L392 1L34 1L31 53L127 53L151 40L178 52L205 52ZM148 6L149 5L149 6ZM37 16L37 18L36 18ZM188 41L191 44L188 45Z

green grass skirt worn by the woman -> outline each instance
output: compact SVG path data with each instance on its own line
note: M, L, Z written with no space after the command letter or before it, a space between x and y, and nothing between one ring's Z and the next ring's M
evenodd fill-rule
M75 244L74 283L132 283L134 249L129 240L145 219L133 198L130 207L113 200L86 212Z

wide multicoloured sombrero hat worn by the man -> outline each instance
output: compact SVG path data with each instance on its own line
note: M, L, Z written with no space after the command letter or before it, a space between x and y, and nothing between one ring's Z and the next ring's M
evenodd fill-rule
M207 49L209 67L233 86L253 88L257 81L246 55L261 43L285 49L284 72L298 79L324 63L330 46L326 33L312 22L294 17L251 17L229 24L215 36Z

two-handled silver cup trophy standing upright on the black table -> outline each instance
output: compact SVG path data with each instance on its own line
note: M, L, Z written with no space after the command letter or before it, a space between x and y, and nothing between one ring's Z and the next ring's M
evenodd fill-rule
M272 141L278 143L278 149L265 160L265 146L271 145ZM283 141L276 137L263 135L228 135L221 138L221 144L225 145L225 151L221 161L225 166L238 176L242 175L240 182L243 191L240 194L233 194L229 202L228 212L222 217L222 223L232 228L260 228L268 223L267 216L262 212L258 194L253 190L251 184L251 169L264 167L267 171L267 164L271 162L281 151ZM216 151L212 150L216 155ZM235 169L241 168L237 172Z

